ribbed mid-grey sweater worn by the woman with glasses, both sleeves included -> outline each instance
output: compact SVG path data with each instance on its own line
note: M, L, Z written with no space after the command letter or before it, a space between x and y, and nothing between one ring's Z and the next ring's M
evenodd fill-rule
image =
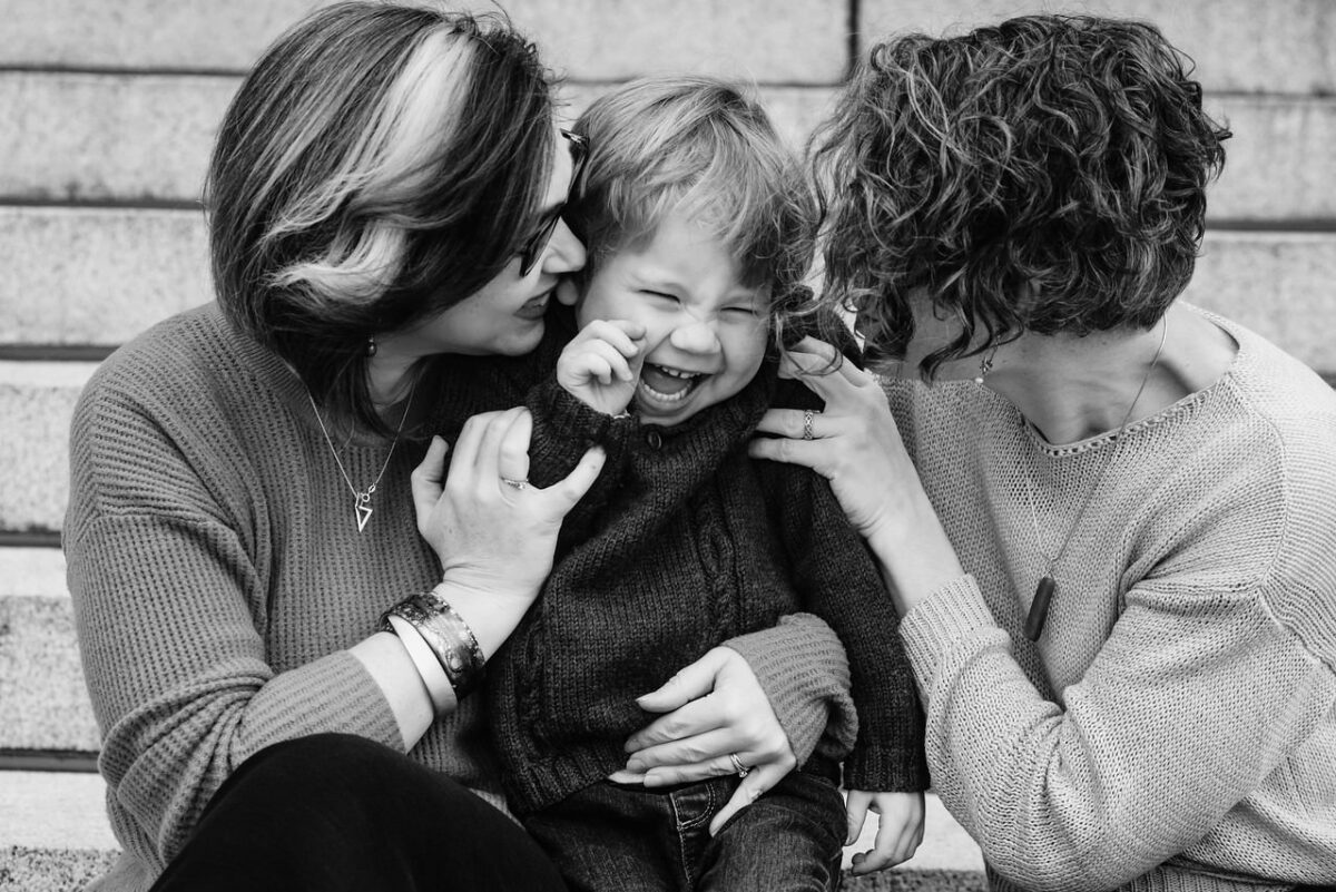
M449 374L433 381L444 383L417 397L438 407L424 433L514 405L505 377L469 378L468 391ZM301 382L214 304L136 338L90 381L71 433L64 547L124 848L98 888L146 889L223 780L263 746L349 732L406 749L347 652L386 608L440 580L409 486L425 442L401 441L386 465L387 451L369 435L342 450L359 483L385 466L358 533ZM728 644L806 756L840 698L839 641L798 617ZM482 718L484 700L465 698L410 756L500 807Z

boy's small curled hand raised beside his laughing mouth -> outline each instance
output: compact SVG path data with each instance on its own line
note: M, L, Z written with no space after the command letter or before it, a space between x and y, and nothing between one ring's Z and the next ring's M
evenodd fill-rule
M645 327L625 319L596 319L580 330L557 359L557 383L607 415L631 405L644 365Z

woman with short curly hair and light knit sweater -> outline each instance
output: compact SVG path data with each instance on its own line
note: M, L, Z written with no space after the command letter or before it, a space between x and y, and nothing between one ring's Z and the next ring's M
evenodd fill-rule
M1336 883L1336 397L1176 302L1228 135L1156 28L1031 16L875 47L818 138L886 377L752 453L867 537L995 889Z

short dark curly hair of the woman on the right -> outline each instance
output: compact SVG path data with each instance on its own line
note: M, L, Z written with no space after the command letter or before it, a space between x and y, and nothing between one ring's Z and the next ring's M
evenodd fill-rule
M1025 331L1154 324L1230 135L1190 71L1156 27L1093 16L878 44L812 140L823 302L879 357L903 355L914 300L958 319L927 379Z

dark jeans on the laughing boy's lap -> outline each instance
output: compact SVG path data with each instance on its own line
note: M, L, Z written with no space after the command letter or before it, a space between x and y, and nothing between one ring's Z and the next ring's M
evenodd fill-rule
M844 800L835 781L792 772L709 836L736 777L649 791L599 783L525 820L572 892L839 888Z

